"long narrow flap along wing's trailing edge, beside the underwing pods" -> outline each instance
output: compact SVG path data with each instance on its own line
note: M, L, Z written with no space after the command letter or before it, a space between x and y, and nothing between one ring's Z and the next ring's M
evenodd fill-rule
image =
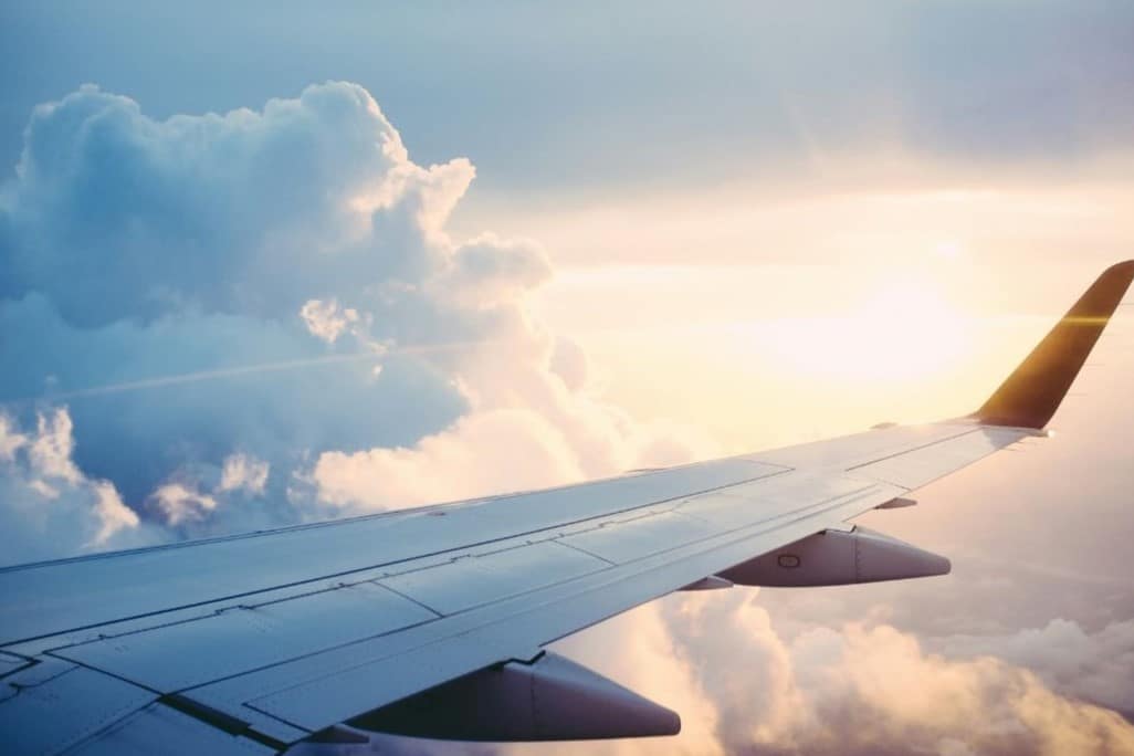
M528 657L533 643L550 643L752 554L802 538L816 525L822 529L892 498L896 489L879 486L877 491L841 508L811 502L810 516L790 512L776 523L722 533L560 584L538 596L500 602L411 632L299 660L286 665L289 669L246 676L246 682L257 688L274 689L248 705L298 727L320 729L342 721L358 706L375 707L429 688L435 682L426 681L439 674L463 674L496 660ZM307 681L296 683L303 678Z

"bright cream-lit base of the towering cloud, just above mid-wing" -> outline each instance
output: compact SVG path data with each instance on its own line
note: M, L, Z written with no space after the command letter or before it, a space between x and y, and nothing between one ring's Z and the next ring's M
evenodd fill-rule
M524 491L672 465L717 449L703 434L634 423L570 394L547 372L530 375L533 385L509 385L503 397L494 396L502 383L492 375L494 369L477 376L474 385L485 393L473 400L472 413L412 447L321 453L308 476L320 501L399 509L501 493L502 485Z

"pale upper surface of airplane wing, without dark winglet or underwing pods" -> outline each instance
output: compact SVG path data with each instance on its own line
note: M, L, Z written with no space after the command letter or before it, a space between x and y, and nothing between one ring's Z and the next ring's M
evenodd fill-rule
M547 492L3 570L0 591L12 601L0 605L9 639L0 645L52 649L86 676L178 691L291 742L493 663L532 659L547 643L835 526L1021 435L890 428ZM931 461L934 449L943 461ZM163 721L151 720L139 715L135 732Z

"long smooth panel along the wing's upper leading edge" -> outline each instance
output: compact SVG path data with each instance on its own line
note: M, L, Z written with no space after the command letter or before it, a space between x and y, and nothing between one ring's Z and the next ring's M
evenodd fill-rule
M0 646L345 576L772 474L725 459L391 515L0 569Z

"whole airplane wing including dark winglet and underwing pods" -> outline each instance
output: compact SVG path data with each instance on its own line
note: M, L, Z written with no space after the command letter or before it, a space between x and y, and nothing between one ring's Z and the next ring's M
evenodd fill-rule
M1134 261L1102 273L967 417L0 570L0 746L219 756L366 730L675 733L674 712L543 647L683 588L947 572L847 520L1042 434L1132 278Z

